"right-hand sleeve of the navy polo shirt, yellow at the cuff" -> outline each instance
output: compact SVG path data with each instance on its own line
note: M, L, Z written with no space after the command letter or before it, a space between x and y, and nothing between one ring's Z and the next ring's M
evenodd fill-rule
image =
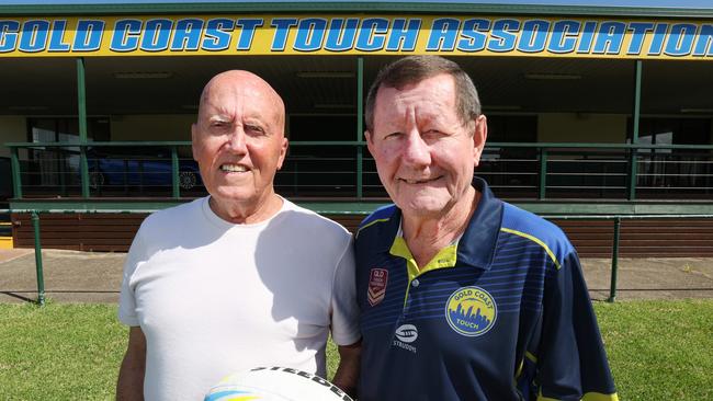
M618 400L576 252L545 284L537 400Z

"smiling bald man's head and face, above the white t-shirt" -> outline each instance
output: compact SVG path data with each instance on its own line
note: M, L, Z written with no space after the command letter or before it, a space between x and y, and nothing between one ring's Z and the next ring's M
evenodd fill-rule
M264 81L245 71L208 83L191 131L193 159L216 202L253 205L272 193L287 149L282 107Z

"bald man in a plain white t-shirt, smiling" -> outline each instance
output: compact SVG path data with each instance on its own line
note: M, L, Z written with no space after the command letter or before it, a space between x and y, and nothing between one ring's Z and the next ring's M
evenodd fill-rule
M275 194L287 151L284 103L247 71L214 77L192 126L210 196L149 216L124 266L129 325L118 400L200 400L256 366L326 375L353 392L360 333L351 236Z

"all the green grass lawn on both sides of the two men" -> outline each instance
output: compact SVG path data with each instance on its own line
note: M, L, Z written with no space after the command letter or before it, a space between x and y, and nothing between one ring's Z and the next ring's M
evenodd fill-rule
M713 300L595 308L621 400L713 399ZM0 400L111 400L125 346L116 306L0 305Z

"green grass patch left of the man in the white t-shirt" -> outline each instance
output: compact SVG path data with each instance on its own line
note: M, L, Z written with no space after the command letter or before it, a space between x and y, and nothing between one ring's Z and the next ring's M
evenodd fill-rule
M126 329L107 305L0 305L0 400L111 400Z

